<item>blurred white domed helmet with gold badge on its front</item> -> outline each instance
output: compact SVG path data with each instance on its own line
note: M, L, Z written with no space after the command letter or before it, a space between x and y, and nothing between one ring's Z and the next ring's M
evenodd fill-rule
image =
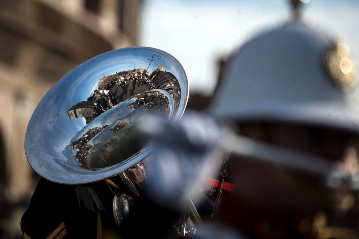
M359 129L350 48L290 23L242 46L227 63L210 113L236 121L287 121Z

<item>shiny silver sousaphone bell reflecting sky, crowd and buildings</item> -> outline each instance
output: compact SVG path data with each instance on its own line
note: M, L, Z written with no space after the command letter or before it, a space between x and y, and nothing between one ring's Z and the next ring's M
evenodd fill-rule
M25 135L27 159L53 182L112 177L150 154L137 125L150 114L179 120L187 98L186 73L170 54L147 47L103 53L67 73L40 101Z

